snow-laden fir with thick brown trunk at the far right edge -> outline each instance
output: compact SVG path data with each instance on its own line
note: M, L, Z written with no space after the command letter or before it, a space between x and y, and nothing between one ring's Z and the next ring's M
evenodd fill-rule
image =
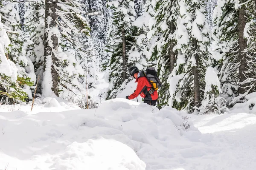
M242 101L253 91L255 77L255 57L246 50L244 35L246 23L252 18L249 0L218 0L214 11L214 56L220 72L222 94L229 106ZM250 42L249 42L250 43Z

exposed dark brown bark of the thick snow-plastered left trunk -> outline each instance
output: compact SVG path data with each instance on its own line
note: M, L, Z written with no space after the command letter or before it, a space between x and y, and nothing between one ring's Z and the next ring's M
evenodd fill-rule
M49 33L52 27L57 27L57 0L45 0L45 33L44 33L44 62L46 57L52 58L52 91L58 96L58 72L54 68L57 65L58 59L55 57L54 51L58 50L58 37L55 34ZM51 40L51 44L49 44Z

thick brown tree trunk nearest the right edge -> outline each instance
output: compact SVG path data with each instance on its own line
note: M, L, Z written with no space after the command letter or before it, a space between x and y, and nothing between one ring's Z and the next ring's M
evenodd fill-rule
M245 17L245 11L244 11L244 5L242 5L239 8L239 82L244 82L246 80L246 77L244 75L245 68L246 68L246 54L244 53L244 49L247 48L246 41L244 40L244 27L246 24L246 17ZM244 94L245 92L245 84L240 84L238 88L239 94Z

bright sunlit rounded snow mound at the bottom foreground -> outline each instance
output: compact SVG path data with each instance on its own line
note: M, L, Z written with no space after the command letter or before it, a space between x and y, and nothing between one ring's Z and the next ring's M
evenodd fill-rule
M73 142L47 159L56 170L145 170L145 163L125 144L113 139Z

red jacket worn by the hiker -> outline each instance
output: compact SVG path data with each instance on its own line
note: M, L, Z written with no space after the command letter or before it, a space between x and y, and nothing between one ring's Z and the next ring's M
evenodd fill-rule
M156 100L158 98L157 91L154 91L153 94L148 93L148 91L152 88L152 85L150 82L148 82L145 75L141 77L138 76L135 82L138 82L137 88L133 94L128 96L128 99L134 99L135 97L139 96L139 94L144 98L144 100Z

